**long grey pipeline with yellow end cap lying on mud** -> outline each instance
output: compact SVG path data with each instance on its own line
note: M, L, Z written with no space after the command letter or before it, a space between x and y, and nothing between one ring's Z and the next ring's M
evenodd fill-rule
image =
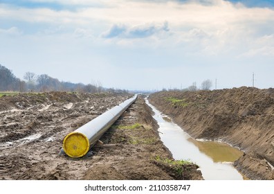
M89 123L82 125L74 132L66 135L63 141L63 150L69 157L79 158L86 155L91 147L100 139L111 125L122 115L123 112L135 102L137 94L109 109ZM61 150L62 151L62 150Z

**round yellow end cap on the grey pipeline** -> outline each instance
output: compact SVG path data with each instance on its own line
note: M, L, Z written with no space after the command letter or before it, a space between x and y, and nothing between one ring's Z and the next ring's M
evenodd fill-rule
M72 132L64 138L63 149L69 157L83 157L89 152L89 139L82 133Z

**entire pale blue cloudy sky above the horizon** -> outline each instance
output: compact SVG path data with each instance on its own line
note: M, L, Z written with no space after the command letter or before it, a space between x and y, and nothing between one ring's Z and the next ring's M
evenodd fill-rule
M0 64L129 90L274 87L274 0L0 0Z

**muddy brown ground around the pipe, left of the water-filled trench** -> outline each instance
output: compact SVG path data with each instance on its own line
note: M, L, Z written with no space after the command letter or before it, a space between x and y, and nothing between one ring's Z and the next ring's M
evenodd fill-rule
M201 179L194 164L156 159L172 157L143 98L102 136L103 145L80 159L59 155L66 134L129 97L64 92L1 97L0 179Z

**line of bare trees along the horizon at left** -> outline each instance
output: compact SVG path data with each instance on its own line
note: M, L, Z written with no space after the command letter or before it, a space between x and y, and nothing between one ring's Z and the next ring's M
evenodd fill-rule
M26 72L24 80L17 78L10 69L0 64L0 91L77 91L82 93L100 93L103 91L127 93L125 89L106 89L100 82L84 85L82 83L63 82L47 74L36 75Z

